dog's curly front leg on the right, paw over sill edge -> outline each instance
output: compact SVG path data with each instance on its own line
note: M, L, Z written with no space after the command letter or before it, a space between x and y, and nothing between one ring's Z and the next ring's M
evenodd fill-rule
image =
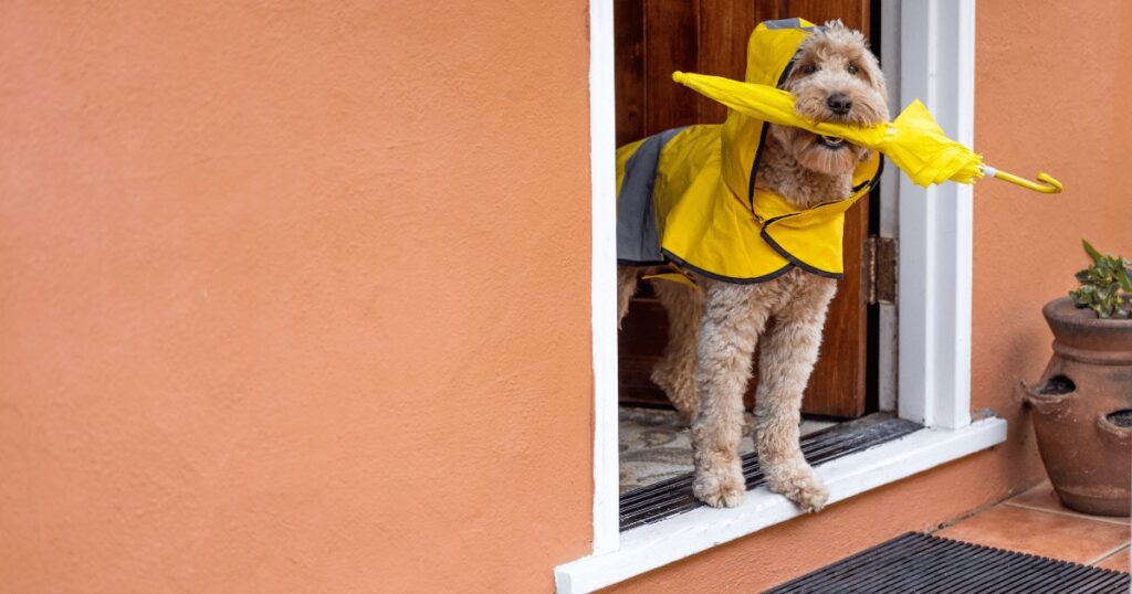
M801 396L822 344L825 312L837 285L813 278L775 316L763 339L755 395L755 446L771 491L798 503L803 511L825 506L829 492L801 456L798 423Z

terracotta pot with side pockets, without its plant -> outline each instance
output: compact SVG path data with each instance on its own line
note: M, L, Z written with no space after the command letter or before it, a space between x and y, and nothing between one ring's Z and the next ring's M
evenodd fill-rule
M1023 386L1038 451L1066 507L1126 516L1132 483L1132 320L1099 319L1067 298L1043 308L1054 355Z

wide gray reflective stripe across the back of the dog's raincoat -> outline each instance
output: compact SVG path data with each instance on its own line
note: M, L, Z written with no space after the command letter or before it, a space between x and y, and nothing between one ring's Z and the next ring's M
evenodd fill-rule
M617 193L618 262L645 265L664 261L657 234L652 187L657 181L661 149L681 130L684 128L672 128L650 136L625 163L625 178Z

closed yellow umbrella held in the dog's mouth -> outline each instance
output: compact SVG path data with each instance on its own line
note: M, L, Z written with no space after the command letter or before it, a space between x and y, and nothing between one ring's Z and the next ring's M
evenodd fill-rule
M674 72L672 79L746 115L841 137L855 145L878 150L918 186L927 187L947 180L974 183L984 175L992 175L1038 192L1062 191L1061 182L1046 173L1038 173L1043 183L1037 183L983 163L981 155L947 138L919 100L908 105L892 122L863 127L803 118L794 111L794 96L771 86L686 72Z

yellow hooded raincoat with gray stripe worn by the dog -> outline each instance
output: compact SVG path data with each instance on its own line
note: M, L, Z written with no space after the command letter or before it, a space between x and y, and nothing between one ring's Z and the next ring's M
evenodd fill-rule
M747 43L746 81L778 86L815 26L760 24ZM732 283L757 283L794 267L839 278L844 213L876 184L877 153L854 172L854 191L797 210L754 189L767 124L736 110L722 124L667 130L617 150L617 258L676 262Z

